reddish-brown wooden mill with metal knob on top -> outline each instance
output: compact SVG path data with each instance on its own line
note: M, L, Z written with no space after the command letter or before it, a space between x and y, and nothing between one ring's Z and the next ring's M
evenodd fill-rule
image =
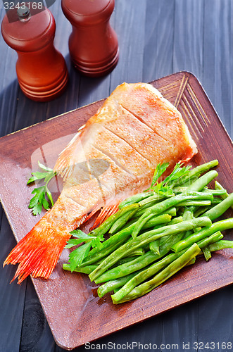
M34 101L59 96L68 83L65 60L54 45L56 23L48 8L22 6L4 16L1 32L17 51L16 73L23 93ZM10 20L9 20L10 18Z

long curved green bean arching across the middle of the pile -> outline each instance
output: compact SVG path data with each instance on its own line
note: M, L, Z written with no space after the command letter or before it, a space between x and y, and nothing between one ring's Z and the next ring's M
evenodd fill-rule
M89 275L89 278L92 280L96 280L103 272L111 268L120 258L131 253L134 249L137 249L144 244L150 243L160 237L166 236L168 234L174 234L179 232L184 232L187 230L191 230L194 227L199 226L210 226L211 221L209 218L197 218L193 220L183 221L177 225L164 226L157 230L151 230L149 232L145 232L140 234L136 239L132 239L131 241L123 244L118 249L113 251L103 262Z

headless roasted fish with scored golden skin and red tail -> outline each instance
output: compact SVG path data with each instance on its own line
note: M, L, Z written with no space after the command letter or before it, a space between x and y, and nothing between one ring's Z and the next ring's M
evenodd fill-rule
M70 231L92 210L146 189L158 163L189 161L197 153L177 108L146 83L123 83L81 127L58 157L63 177L53 208L15 246L4 265L13 279L49 278Z

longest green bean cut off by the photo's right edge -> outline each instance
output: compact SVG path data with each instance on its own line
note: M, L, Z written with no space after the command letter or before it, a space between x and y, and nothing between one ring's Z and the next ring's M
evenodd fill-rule
M181 241L177 241L177 243L172 246L172 251L175 251L175 252L182 251L182 249L185 249L191 246L195 242L198 242L201 239L204 239L210 236L211 234L214 234L215 232L224 231L232 228L233 228L233 218L220 220L212 224L210 227L203 227L203 229L201 229L199 232L191 234L185 239L182 239Z

